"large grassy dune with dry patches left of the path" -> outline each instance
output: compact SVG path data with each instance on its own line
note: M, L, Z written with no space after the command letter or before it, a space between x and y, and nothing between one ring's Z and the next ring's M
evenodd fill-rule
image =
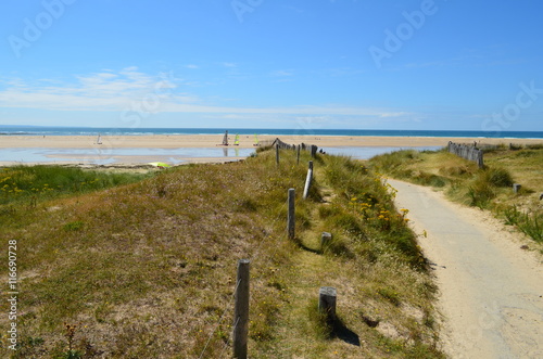
M23 192L0 204L2 240L17 242L21 287L17 351L2 343L1 355L227 355L237 260L250 258L251 357L442 357L435 286L407 210L394 208L379 175L328 155L314 159L304 201L307 161L281 151L277 166L264 151L139 181L40 166L46 181L24 175L35 167L4 169L4 183ZM289 188L296 190L293 241ZM324 231L332 241L321 247ZM317 310L320 286L338 289L332 324Z

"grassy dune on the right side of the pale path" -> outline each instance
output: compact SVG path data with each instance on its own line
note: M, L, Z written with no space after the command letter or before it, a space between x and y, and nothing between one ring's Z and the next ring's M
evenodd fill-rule
M483 169L444 150L384 154L371 158L369 166L394 178L444 189L452 200L490 209L543 243L543 210L536 192L543 176L542 150L534 144L492 146L485 150ZM514 183L521 184L518 193Z

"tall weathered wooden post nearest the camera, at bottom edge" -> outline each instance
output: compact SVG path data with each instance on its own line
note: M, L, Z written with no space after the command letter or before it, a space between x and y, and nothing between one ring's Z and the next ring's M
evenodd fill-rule
M233 358L247 359L249 333L249 259L238 261L238 280L233 307Z

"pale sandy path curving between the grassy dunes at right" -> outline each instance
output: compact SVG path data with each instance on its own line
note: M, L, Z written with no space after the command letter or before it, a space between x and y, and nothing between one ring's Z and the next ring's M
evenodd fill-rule
M543 265L490 215L396 180L396 204L437 274L452 358L543 358Z

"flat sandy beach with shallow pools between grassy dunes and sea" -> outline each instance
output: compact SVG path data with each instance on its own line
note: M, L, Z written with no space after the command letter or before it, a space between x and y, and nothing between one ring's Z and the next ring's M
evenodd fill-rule
M269 144L277 136L260 136L261 145ZM444 146L449 141L460 143L543 143L542 139L479 139L442 137L349 137L349 136L280 136L292 144L315 144L319 149L344 148L429 148ZM220 134L155 134L102 136L101 144L91 136L2 136L0 164L98 164L141 165L153 161L182 163L217 163L247 157L256 146L254 136L240 136L239 145L223 146ZM181 151L184 150L184 151Z

